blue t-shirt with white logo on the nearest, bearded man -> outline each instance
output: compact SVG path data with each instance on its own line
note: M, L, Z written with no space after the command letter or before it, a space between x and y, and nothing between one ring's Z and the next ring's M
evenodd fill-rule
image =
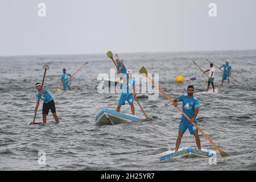
M195 108L200 108L199 100L196 97L180 96L179 101L182 101L182 110L189 118L193 118L195 114ZM181 122L191 123L188 119L182 114Z

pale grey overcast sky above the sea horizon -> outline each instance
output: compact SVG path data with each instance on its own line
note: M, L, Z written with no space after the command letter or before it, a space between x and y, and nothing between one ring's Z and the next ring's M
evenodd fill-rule
M1 0L0 56L256 49L255 22L255 0Z

